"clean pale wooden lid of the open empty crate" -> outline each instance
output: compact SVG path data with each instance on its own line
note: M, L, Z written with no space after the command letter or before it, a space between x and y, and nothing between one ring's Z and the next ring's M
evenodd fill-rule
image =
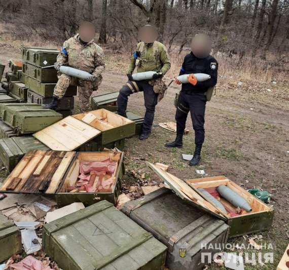
M36 132L33 137L52 150L72 151L101 133L98 129L72 116Z

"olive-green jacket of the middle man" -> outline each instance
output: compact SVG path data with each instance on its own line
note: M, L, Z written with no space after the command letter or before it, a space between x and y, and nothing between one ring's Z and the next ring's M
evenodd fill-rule
M137 67L137 72L157 71L163 74L170 69L170 59L166 47L155 41L154 43L140 42L136 45L135 51L140 51L140 57L135 58L132 54L127 74L132 73Z

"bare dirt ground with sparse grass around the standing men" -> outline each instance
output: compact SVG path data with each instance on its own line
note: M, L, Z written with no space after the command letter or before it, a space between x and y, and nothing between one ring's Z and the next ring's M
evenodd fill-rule
M0 48L2 50L0 61L7 62L7 59L13 57L21 59L21 51L17 48L3 44L0 44ZM94 95L118 91L126 81L125 71L116 71L109 67L105 70L103 82ZM256 93L250 90L250 87L259 89L260 92ZM190 132L184 138L183 149L165 148L164 144L173 141L175 133L158 126L161 122L174 121L173 99L179 89L172 84L165 98L157 105L154 127L148 140L139 141L137 137L126 139L126 174L123 178L123 191L127 192L131 185L159 185L161 183L160 179L146 166L145 160L168 164L169 172L180 179L199 178L200 176L195 171L198 168L204 170L208 177L225 175L245 189L261 188L269 191L273 196L270 205L275 209L273 226L269 231L261 233L262 239L255 241L259 245L272 244L274 262L257 265L247 263L245 269L257 267L275 269L289 239L288 85L278 82L276 85L272 83L256 85L256 83L247 82L238 88L235 82L220 83L216 96L207 103L206 139L202 162L197 167L189 166L188 161L182 159L183 153L193 154L194 152L194 130L190 116L187 121ZM272 91L267 91L267 89L272 89ZM76 100L78 100L77 97ZM144 115L142 93L130 96L128 110ZM2 172L2 175L4 179L5 172ZM135 196L138 195L140 194L135 194ZM245 243L247 246L248 238L231 239L229 243L239 245ZM228 252L240 252L240 250ZM272 252L272 250L262 250L262 253L265 252ZM216 266L215 263L208 267L209 269L225 269L225 267Z

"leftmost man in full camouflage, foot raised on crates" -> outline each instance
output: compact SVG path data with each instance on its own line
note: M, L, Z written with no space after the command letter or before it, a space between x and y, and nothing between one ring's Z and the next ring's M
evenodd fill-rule
M58 82L54 88L53 100L50 104L45 105L45 108L56 110L67 87L76 83L81 112L90 110L90 97L100 85L101 73L105 67L102 49L93 42L94 35L94 25L90 22L84 22L79 28L79 33L63 43L54 65L55 69L59 71L60 65L68 62L69 66L86 71L91 76L87 80L82 80L58 72Z

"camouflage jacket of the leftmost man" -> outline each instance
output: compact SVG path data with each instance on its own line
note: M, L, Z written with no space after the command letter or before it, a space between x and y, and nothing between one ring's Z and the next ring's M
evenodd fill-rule
M105 63L102 49L92 41L83 45L79 40L79 35L64 41L57 62L66 63L82 71L86 71L96 77L101 77Z

